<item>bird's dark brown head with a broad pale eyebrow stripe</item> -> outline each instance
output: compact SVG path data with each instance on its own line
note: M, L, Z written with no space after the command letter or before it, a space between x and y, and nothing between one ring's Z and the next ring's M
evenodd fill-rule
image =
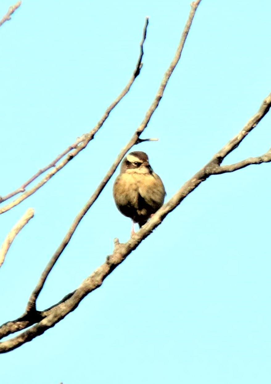
M122 161L120 173L141 173L150 174L151 169L148 155L145 152L130 152Z

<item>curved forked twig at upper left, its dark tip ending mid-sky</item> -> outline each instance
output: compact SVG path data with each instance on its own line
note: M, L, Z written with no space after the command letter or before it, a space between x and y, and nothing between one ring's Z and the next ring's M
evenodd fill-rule
M131 79L129 80L128 84L126 87L123 89L123 91L120 93L120 95L113 101L113 103L106 109L105 113L103 114L102 118L96 126L87 134L83 135L79 139L76 140L74 144L69 146L62 154L60 154L54 161L52 161L48 166L44 167L43 169L39 170L34 176L32 176L25 184L22 185L22 187L16 189L15 191L11 192L10 194L6 195L5 197L0 197L0 203L3 202L4 200L10 199L10 197L13 197L17 195L20 192L25 191L25 187L29 185L31 182L33 182L35 179L37 179L38 176L42 175L44 172L46 172L48 169L54 167L53 170L48 172L48 174L37 184L35 187L32 189L28 190L21 196L19 196L16 200L14 200L12 203L7 204L5 207L0 209L0 214L3 214L4 212L7 212L8 210L12 209L16 205L20 204L23 200L27 199L27 197L33 195L40 187L42 187L45 183L47 183L48 180L53 177L60 169L62 169L71 159L73 159L79 152L81 152L87 145L88 143L93 140L95 134L98 132L98 130L101 128L103 123L106 121L108 118L110 112L115 108L115 106L123 99L123 97L128 93L130 90L133 82L135 81L136 77L140 74L140 70L142 68L142 58L143 58L143 45L146 40L146 33L147 33L147 26L148 26L148 17L145 20L145 25L143 28L143 37L140 42L140 56L138 58L138 61L136 63L136 68L133 71L133 75L131 76ZM62 159L63 156L65 156L68 152L70 152L72 149L74 149L73 152L69 153L68 156L60 163L58 166L56 166L56 163Z

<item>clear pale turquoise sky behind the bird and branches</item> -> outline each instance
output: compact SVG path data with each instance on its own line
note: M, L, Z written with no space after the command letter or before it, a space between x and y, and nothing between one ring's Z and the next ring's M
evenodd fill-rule
M0 17L12 5L2 0ZM90 131L126 85L150 17L143 69L95 140L0 217L1 242L28 207L0 269L0 323L20 316L43 268L154 99L189 0L23 1L0 28L0 195ZM202 0L160 106L135 150L167 197L271 92L269 0ZM271 115L225 164L271 146ZM118 172L119 170L117 170ZM210 177L54 328L0 356L1 383L252 384L271 378L271 164ZM42 310L130 237L108 183L50 274Z

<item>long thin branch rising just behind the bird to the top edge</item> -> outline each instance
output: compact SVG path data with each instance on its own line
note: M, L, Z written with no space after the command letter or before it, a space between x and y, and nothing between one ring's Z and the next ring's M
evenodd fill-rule
M183 46L185 45L186 37L187 37L188 32L190 30L191 23L193 21L196 9L197 9L200 1L201 0L198 0L197 2L194 2L194 3L191 4L190 15L188 17L188 20L186 22L185 28L184 28L183 33L181 35L181 40L180 40L180 43L178 45L176 54L175 54L175 56L173 58L173 61L170 64L168 70L166 71L165 75L163 76L162 82L161 82L160 87L158 89L158 92L157 92L157 94L155 96L155 99L154 99L153 103L151 104L150 108L148 109L145 118L141 122L141 124L138 127L138 129L136 129L136 132L131 137L131 140L121 150L120 154L118 155L116 160L113 162L113 165L110 167L110 169L108 170L107 174L105 175L105 177L103 178L101 183L98 185L98 188L95 190L93 195L90 197L90 199L88 200L86 205L83 207L83 209L81 209L81 211L75 217L75 220L73 221L70 229L68 230L67 234L65 235L65 237L62 240L62 242L59 245L59 247L57 248L56 252L53 254L50 262L47 264L45 270L43 271L42 276L40 277L40 280L38 281L37 286L33 290L32 294L31 294L31 296L29 298L28 304L27 304L27 311L33 311L33 309L36 307L36 301L37 301L38 295L40 294L40 291L42 290L43 285L44 285L44 283L45 283L45 281L46 281L50 271L52 270L53 266L55 265L55 263L57 262L58 258L62 254L63 250L66 248L66 246L67 246L68 242L70 241L73 233L75 232L76 228L78 227L78 224L80 223L80 221L82 220L82 218L84 217L86 212L88 212L88 210L90 209L91 205L93 205L95 200L98 198L98 196L100 195L100 193L102 192L102 190L104 189L104 187L106 186L108 181L111 179L113 173L115 172L116 168L120 164L120 162L123 159L123 157L125 156L125 154L129 151L129 149L132 146L134 146L138 142L139 136L141 135L141 133L145 130L146 126L148 125L148 122L150 121L151 116L153 115L154 111L158 107L161 98L163 97L163 93L164 93L164 90L165 90L166 85L168 83L168 80L170 79L170 76L173 73L173 70L175 69L178 61L180 60L181 52L183 50Z

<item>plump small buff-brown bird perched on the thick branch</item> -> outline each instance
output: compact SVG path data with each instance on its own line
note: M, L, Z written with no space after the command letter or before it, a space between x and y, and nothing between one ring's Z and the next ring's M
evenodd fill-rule
M120 174L113 187L118 210L142 227L163 205L165 195L163 182L153 172L147 154L130 152L121 163Z

